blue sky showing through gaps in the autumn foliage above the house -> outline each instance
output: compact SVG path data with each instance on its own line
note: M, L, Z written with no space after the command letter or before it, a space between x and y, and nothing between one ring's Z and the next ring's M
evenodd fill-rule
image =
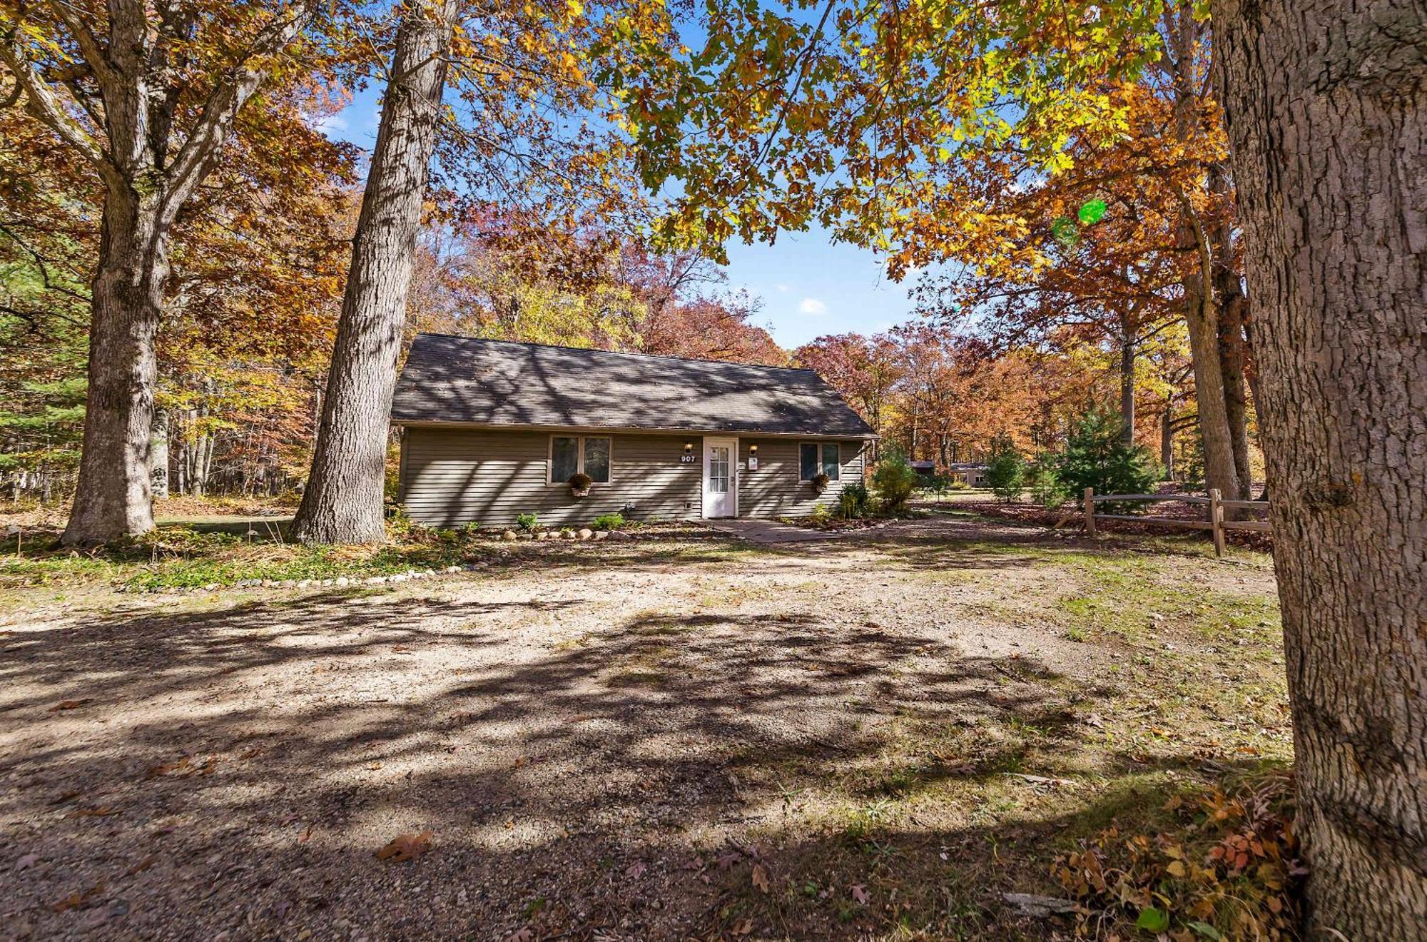
M325 121L328 136L371 150L378 94L358 91ZM731 243L728 255L728 287L763 300L758 320L786 350L822 334L876 333L915 317L910 278L888 280L873 253L833 244L822 230L783 233L773 245Z

